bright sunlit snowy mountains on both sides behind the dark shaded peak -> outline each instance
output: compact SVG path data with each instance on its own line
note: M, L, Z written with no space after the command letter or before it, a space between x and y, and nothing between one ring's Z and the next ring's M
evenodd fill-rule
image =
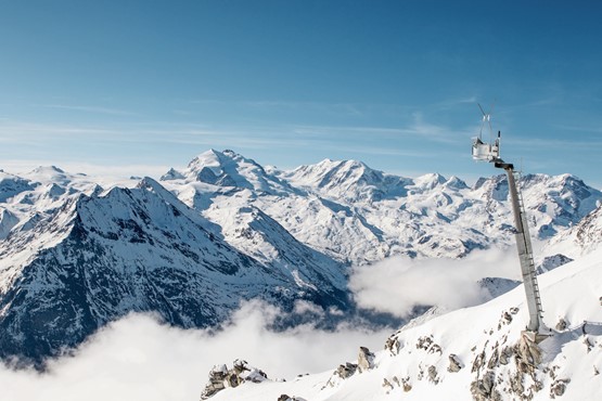
M139 182L108 182L56 167L18 177L0 171L0 241L11 232L33 233L40 219L69 198L105 196L112 187L133 187ZM459 258L474 249L513 244L503 174L469 186L457 177L431 173L411 179L373 170L360 161L329 159L280 171L265 169L232 151L212 150L182 171L169 170L161 185L214 222L236 249L264 262L281 257L278 241L282 234L355 266L394 255ZM556 241L536 257L562 248L575 258L582 249L595 248L595 235L577 241L579 247L575 247L565 232L597 208L601 210L600 191L571 174L528 174L522 186L531 234L545 244ZM576 230L573 235L577 236ZM568 241L567 247L562 246L563 240Z

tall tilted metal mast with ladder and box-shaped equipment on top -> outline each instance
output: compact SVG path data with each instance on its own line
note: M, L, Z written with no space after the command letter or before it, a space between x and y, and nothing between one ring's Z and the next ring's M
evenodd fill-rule
M472 155L473 159L478 161L492 163L496 168L501 168L505 170L508 176L508 187L511 195L512 210L514 212L514 236L516 240L516 248L518 250L518 260L521 261L521 271L523 275L523 283L525 285L525 293L527 296L527 307L529 311L529 323L524 332L533 342L540 342L549 334L546 334L546 329L541 320L542 309L541 309L541 296L539 294L539 286L537 284L537 276L535 273L535 262L533 259L533 246L530 243L530 235L528 231L527 217L525 212L525 206L523 203L523 196L516 181L520 180L521 173L514 170L514 165L511 163L505 163L500 158L500 141L501 133L498 131L498 135L492 143L485 143L482 140L483 126L485 122L489 125L489 131L491 133L491 122L490 115L483 111L483 107L478 105L481 113L483 113L483 124L481 126L481 132L478 137L473 139Z

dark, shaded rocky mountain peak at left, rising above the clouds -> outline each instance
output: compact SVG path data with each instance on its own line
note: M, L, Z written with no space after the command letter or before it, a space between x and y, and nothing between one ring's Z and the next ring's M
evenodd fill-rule
M349 309L344 288L328 282L330 275L313 271L326 281L308 288L297 286L294 276L272 274L154 184L80 196L2 244L0 253L10 256L22 242L56 238L12 268L15 274L0 294L0 358L41 367L44 358L130 312L153 312L180 327L208 327L244 299L260 298L284 310L296 299Z

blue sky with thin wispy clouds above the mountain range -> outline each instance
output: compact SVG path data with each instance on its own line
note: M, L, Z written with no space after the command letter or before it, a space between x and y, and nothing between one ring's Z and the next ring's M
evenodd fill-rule
M293 168L502 156L602 186L598 1L0 0L0 168L161 173L208 148ZM127 171L127 172L126 172Z

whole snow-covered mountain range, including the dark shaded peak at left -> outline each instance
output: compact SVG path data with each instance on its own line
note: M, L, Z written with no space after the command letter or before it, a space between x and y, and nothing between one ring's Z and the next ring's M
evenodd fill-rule
M545 270L599 245L600 191L571 174L521 183L541 262L562 254ZM232 151L159 182L0 170L0 357L40 365L130 312L216 326L255 298L291 312L284 326L304 321L299 301L323 309L324 325L368 319L349 266L508 247L508 198L504 176L469 186L354 160L281 171Z

